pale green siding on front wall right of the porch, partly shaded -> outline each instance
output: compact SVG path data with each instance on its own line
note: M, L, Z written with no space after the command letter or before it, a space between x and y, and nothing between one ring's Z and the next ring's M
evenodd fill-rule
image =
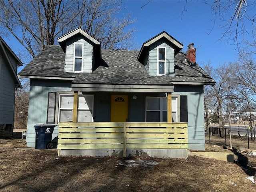
M174 86L174 93L188 96L188 148L204 150L203 86Z

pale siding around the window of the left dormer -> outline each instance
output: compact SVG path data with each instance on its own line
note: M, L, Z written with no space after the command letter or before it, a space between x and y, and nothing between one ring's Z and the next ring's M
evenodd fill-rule
M65 54L65 72L73 72L74 64L74 43L83 43L84 52L83 52L83 71L84 73L92 72L92 60L93 60L93 46L82 37L78 36L73 38L72 41L69 40L66 42L66 54Z

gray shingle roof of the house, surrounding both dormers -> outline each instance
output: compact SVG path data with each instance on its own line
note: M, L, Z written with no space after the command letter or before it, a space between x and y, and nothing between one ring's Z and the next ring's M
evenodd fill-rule
M102 60L92 73L64 72L65 54L60 46L47 46L18 75L75 78L78 84L154 84L171 82L214 83L198 65L190 66L184 53L175 56L175 76L149 76L143 64L136 60L138 51L102 50Z

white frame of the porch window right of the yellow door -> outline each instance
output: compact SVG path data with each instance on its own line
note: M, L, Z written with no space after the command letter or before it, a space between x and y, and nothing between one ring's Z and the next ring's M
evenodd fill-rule
M160 98L160 110L147 110L147 98ZM176 100L176 108L172 106L172 112L176 112L176 121L174 122L180 122L180 95L178 94L173 94L172 99ZM147 111L159 111L160 112L160 122L163 122L163 112L167 112L167 110L163 110L163 103L162 100L166 99L166 97L146 97L146 104L145 104L145 122L147 122ZM167 108L167 106L166 106ZM168 117L167 117L168 118Z

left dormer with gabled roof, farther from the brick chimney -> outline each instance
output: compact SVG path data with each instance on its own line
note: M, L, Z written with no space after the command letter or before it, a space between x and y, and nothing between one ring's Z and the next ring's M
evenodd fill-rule
M92 73L101 58L100 41L81 28L61 36L58 43L65 52L64 72Z

